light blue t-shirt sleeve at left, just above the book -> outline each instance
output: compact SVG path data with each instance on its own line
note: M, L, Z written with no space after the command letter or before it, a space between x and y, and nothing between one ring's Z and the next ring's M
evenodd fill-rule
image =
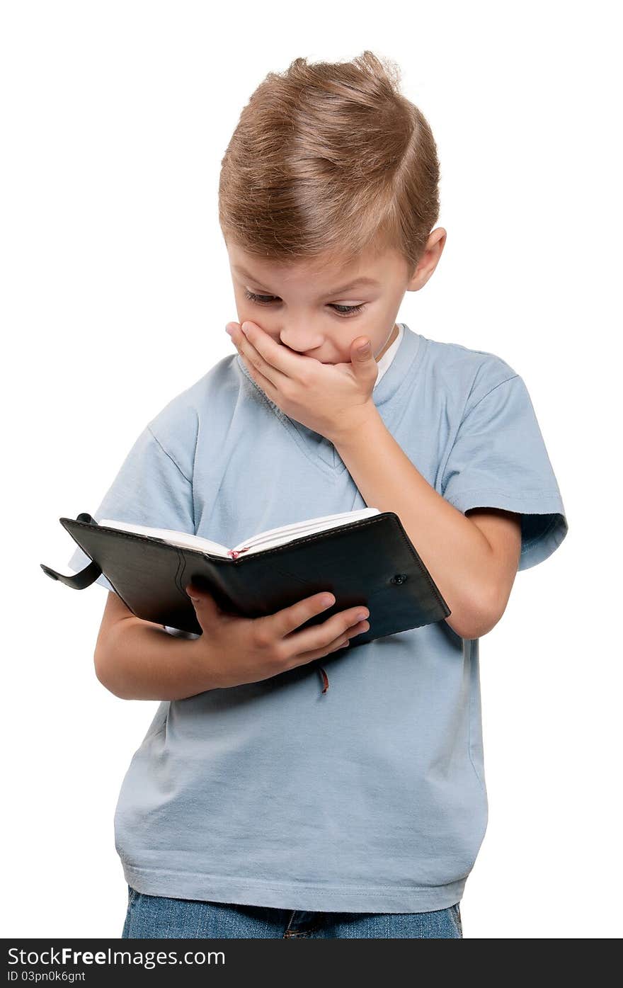
M96 522L111 519L195 535L192 481L156 437L151 424L135 441L104 500L91 514ZM79 572L90 562L76 546L68 566ZM96 582L114 590L104 573Z

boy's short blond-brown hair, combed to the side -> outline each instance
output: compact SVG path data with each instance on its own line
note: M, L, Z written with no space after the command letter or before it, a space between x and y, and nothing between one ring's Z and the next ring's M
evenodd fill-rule
M415 270L439 215L428 122L394 62L295 58L244 107L221 161L226 241L289 264L397 249Z

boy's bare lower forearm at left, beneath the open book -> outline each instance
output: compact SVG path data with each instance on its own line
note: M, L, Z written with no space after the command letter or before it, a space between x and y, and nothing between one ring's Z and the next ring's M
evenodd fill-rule
M128 617L98 641L96 674L121 700L186 700L213 689L205 643Z

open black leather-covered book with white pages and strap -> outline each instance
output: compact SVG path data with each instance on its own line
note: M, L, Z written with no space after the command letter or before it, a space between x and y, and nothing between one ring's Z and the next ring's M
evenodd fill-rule
M71 576L41 563L43 572L74 590L103 574L136 617L201 633L186 591L193 582L225 612L265 617L330 591L333 609L311 623L363 604L370 627L352 644L421 627L450 614L398 515L377 508L309 518L251 535L233 548L209 538L86 512L60 518L91 563Z

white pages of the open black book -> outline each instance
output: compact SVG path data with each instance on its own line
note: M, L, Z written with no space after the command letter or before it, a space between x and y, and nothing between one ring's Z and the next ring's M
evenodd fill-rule
M172 529L152 529L146 525L133 525L130 522L116 522L111 519L102 519L100 525L109 529L119 529L121 532L134 532L136 535L150 535L152 538L161 538L171 545L180 545L187 549L197 549L199 552L209 552L212 555L230 556L237 559L243 552L260 552L262 549L273 548L275 545L284 545L292 541L293 538L301 538L303 535L314 535L316 532L324 532L326 529L337 529L341 525L348 525L350 522L358 522L362 518L371 518L378 515L378 508L361 508L358 511L344 511L339 515L325 515L323 518L308 518L304 522L294 522L292 525L282 525L278 529L268 529L250 538L243 538L241 542L228 549L219 542L213 542L210 538L203 538L200 535L189 535L186 532L175 532Z

